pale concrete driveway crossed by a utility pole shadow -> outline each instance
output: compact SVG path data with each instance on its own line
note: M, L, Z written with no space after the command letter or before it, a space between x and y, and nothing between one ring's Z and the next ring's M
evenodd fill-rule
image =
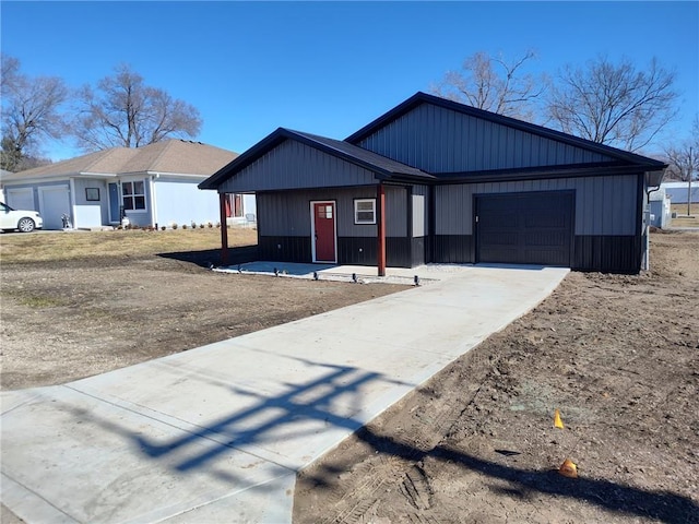
M567 272L436 271L430 285L4 392L2 502L28 523L288 523L299 469L528 312Z

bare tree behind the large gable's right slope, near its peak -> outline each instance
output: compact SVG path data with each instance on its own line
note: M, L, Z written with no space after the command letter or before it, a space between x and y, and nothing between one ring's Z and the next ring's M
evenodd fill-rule
M534 58L530 50L508 62L501 56L490 57L478 51L464 60L461 71L448 71L441 83L430 91L478 109L532 120L533 106L547 83L544 76L522 72Z

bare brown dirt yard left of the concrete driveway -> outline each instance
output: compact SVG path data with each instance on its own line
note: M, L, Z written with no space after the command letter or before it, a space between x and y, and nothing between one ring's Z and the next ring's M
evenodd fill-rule
M155 235L165 234L146 239ZM61 241L60 234L50 239ZM114 254L3 262L3 390L90 377L406 288L214 273L204 259L215 260L215 251L129 255L104 242L95 249Z

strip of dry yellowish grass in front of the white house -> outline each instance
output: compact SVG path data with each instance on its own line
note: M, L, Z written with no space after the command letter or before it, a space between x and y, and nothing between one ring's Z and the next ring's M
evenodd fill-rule
M257 230L228 229L228 246L257 243ZM2 235L0 260L3 264L27 261L60 261L94 257L142 257L177 251L221 248L221 229L144 229L114 231L52 231L31 235Z

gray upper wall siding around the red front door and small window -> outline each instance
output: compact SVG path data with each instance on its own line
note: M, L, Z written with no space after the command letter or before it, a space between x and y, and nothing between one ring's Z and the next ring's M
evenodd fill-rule
M405 188L386 187L386 234L407 235ZM376 225L354 223L354 200L375 199L375 187L257 193L261 236L310 236L310 202L335 201L337 237L376 237Z

